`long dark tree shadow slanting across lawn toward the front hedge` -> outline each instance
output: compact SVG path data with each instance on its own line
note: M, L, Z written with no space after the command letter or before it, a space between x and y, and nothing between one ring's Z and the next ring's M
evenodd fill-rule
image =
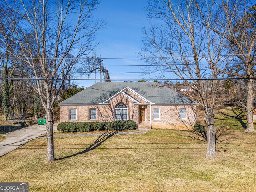
M91 150L96 149L98 146L100 146L104 141L108 140L110 137L114 136L115 134L117 134L120 131L112 131L112 132L105 132L104 134L100 135L93 144L91 144L88 148L86 148L85 150L66 156L66 157L62 157L62 158L58 158L57 160L62 160L62 159L66 159L66 158L70 158L70 157L74 157L80 154L84 154L87 153Z

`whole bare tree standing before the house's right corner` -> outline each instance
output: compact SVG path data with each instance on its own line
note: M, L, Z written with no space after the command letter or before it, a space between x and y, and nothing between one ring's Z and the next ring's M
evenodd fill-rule
M202 20L197 6L204 8L207 22ZM188 82L195 85L193 88L196 96L188 96L196 100L204 110L207 158L216 158L214 116L222 101L218 98L218 92L224 83L216 78L224 76L218 68L222 68L222 62L226 61L222 56L224 38L212 32L209 27L213 9L213 2L150 1L147 7L150 29L144 29L146 38L140 52L147 57L146 62L152 64L154 70L171 70L172 76L193 79Z

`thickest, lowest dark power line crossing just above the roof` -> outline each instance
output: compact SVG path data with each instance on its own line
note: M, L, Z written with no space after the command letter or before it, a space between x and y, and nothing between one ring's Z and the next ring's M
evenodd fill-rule
M189 81L189 80L248 80L256 77L246 78L179 78L179 79L102 79L103 81ZM100 81L100 79L58 79L58 78L0 78L0 80L54 80L54 81Z

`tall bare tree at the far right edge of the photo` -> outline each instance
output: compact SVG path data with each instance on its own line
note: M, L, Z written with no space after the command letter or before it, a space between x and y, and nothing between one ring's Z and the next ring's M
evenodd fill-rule
M219 2L216 2L217 4ZM256 72L256 4L250 0L222 0L218 4L216 17L220 22L212 22L211 29L224 36L229 42L230 54L234 55L234 64L229 70L222 71L238 78L253 78ZM204 17L204 14L201 13ZM228 28L227 28L228 26ZM225 32L224 32L225 31ZM253 80L246 80L247 128L246 132L255 132L253 125Z

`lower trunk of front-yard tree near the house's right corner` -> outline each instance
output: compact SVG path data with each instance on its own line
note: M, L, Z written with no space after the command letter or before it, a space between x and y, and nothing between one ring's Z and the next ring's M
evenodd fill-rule
M216 158L215 151L215 128L214 128L214 114L206 112L206 125L207 125L207 152L206 158Z

